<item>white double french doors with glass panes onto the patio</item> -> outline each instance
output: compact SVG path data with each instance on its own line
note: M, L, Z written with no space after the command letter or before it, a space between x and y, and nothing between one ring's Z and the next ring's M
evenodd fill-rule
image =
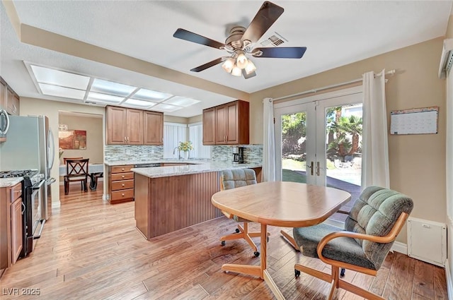
M361 191L362 88L275 104L276 179ZM349 206L350 206L349 205Z

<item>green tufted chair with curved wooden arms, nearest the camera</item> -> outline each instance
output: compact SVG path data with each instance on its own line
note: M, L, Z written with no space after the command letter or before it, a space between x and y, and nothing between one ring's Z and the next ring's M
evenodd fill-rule
M328 224L294 228L294 241L302 254L331 265L331 274L327 274L297 264L294 266L296 277L302 271L331 282L329 300L337 288L365 299L384 299L340 280L339 269L376 276L412 209L413 201L408 196L379 186L369 186L352 207L345 220L345 229Z

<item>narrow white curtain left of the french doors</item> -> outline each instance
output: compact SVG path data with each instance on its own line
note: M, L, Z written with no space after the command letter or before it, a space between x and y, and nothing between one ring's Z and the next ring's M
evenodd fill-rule
M263 100L263 181L275 181L274 103Z

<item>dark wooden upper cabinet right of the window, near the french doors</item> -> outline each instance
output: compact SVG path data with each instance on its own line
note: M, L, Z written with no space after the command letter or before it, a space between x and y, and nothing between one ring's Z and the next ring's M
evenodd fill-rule
M236 100L203 110L203 145L249 143L249 103Z

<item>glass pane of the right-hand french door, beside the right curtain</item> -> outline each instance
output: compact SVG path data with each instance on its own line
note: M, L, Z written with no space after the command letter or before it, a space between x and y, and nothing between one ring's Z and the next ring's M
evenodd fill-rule
M326 186L351 194L342 210L349 211L362 184L362 104L326 108ZM335 214L333 220L344 221Z

